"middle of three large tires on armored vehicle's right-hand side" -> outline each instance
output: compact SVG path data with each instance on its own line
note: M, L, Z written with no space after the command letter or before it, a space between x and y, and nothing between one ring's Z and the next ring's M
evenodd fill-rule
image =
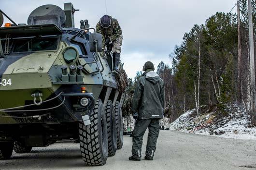
M117 149L117 139L116 139L115 115L114 115L113 103L111 100L107 102L105 113L106 113L107 128L108 128L108 156L112 157L115 155L115 152Z

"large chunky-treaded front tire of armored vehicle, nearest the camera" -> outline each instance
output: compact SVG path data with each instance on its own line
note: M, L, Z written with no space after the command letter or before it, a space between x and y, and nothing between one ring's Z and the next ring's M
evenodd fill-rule
M79 123L80 149L86 166L104 165L108 158L107 121L100 99L90 116L91 124Z

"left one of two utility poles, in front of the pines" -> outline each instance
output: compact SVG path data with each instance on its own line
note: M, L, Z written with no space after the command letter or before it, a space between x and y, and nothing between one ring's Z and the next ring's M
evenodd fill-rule
M241 81L241 33L240 33L240 0L237 1L237 30L238 30L238 100L242 101Z

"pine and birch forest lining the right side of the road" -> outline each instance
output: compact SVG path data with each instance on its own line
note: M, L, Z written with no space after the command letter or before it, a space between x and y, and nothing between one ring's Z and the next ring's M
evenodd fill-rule
M201 109L213 107L221 110L218 116L222 117L225 108L234 103L245 106L250 113L247 0L240 0L239 6L239 31L237 13L216 12L205 24L195 24L190 32L185 33L182 44L169 55L171 66L162 61L157 65L156 72L165 84L166 103L171 105L171 121L186 110L196 109L199 114ZM252 9L256 39L254 0ZM138 71L134 79L128 79L128 93L135 89L140 76L142 72Z

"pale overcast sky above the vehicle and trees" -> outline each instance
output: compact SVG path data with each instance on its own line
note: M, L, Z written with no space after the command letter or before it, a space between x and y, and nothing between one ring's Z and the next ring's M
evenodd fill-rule
M62 9L71 2L75 9L75 26L89 20L95 27L105 14L105 0L0 0L0 9L16 23L26 23L35 8L54 4ZM204 24L216 12L229 12L236 0L107 0L107 14L122 28L121 61L128 77L134 78L146 61L155 67L160 61L171 65L169 54L180 45L185 32L194 24ZM232 12L236 12L236 8ZM5 18L4 22L8 20Z

